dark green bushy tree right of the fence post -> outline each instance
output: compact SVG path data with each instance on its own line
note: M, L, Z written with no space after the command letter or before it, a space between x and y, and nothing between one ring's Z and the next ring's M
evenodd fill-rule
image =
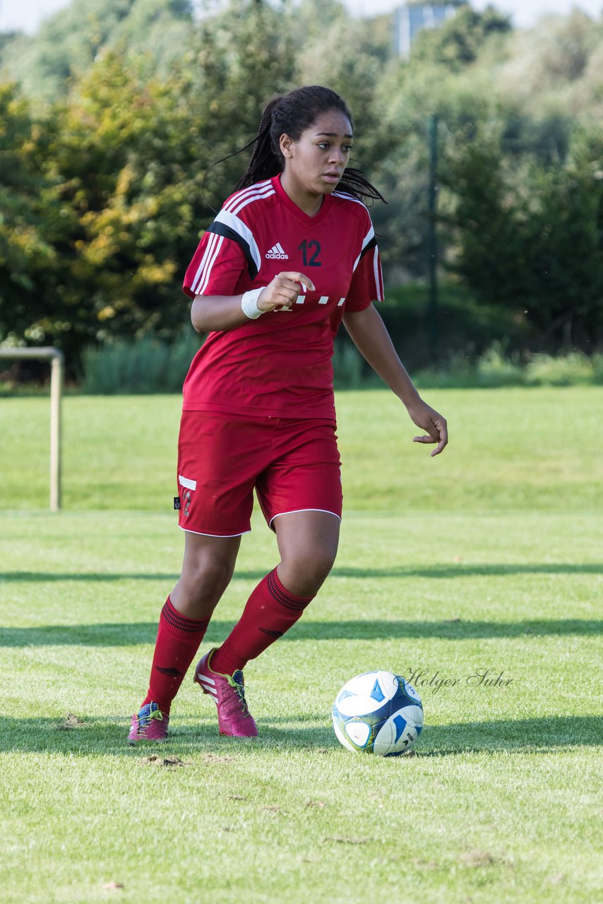
M448 146L457 240L449 268L476 297L524 316L548 350L603 335L603 132L578 133L564 165L505 161L500 133Z

